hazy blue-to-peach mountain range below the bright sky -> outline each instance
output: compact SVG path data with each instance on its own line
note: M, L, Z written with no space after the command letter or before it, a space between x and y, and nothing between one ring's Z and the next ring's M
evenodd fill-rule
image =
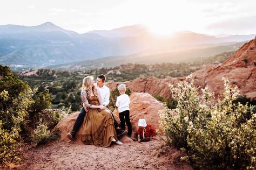
M233 42L248 41L255 36L256 34L217 38L218 36L181 31L171 36L158 37L142 25L83 34L64 30L50 22L38 26L0 25L0 64L12 69L28 69L98 60L106 56L122 59L122 56L127 58L127 55L137 58L172 53L172 58L175 58L174 54L181 51L187 51L188 56L191 51L230 46Z

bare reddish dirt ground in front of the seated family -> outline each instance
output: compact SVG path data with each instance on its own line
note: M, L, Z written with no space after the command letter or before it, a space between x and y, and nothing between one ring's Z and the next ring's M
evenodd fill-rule
M24 151L21 155L23 161L12 165L12 168L192 169L185 162L178 160L180 151L161 146L163 141L157 138L144 143L135 141L123 146L113 144L107 148L53 141Z

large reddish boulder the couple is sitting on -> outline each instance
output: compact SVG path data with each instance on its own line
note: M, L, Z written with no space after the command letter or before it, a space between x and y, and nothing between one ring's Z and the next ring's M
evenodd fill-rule
M147 93L132 93L130 95L130 120L132 123L132 130L135 132L138 129L139 118L145 118L148 124L151 124L154 129L159 129L159 114L158 110L163 109L163 105L159 103L154 97ZM79 112L74 112L62 121L60 121L55 127L54 131L58 130L60 133L60 140L70 141L66 134L72 131L73 124L75 124L76 118ZM81 141L82 128L76 134L74 143L83 144ZM130 143L132 140L128 137L120 139L123 143Z

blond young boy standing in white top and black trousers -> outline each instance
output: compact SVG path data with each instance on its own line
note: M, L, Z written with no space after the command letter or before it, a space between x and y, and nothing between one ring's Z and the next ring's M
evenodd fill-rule
M125 84L120 84L118 86L118 91L120 96L117 97L116 106L118 107L119 111L119 118L121 121L121 129L125 130L125 123L128 127L128 136L131 137L132 135L132 124L130 122L130 109L129 104L131 103L130 98L128 95L125 94L126 87Z

